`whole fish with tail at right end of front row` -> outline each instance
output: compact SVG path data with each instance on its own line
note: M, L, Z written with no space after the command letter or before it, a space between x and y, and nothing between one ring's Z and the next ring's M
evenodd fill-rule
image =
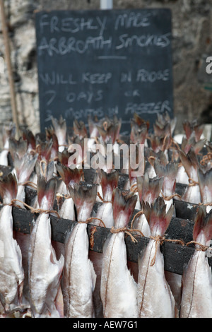
M198 226L200 225L200 226ZM206 215L201 206L194 224L194 241L206 245L212 237L212 211ZM212 318L212 276L206 251L198 250L189 261L183 275L180 318Z

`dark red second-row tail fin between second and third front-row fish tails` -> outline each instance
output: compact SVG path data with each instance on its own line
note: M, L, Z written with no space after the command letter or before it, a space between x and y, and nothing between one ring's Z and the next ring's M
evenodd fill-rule
M83 177L82 168L75 167L71 169L65 165L62 165L61 162L57 162L56 168L66 186L73 186L73 184L78 184Z

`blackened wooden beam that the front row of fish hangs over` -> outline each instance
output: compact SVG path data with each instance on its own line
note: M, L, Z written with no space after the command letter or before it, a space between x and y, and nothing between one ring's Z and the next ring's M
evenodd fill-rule
M30 234L33 220L36 220L37 214L31 213L27 209L13 206L13 228L17 232ZM50 216L52 227L52 240L64 243L66 237L72 227L76 225L75 220L66 220ZM166 239L182 239L184 243L192 240L192 230L194 223L190 220L182 220L180 218L172 218L170 226L165 235ZM107 237L111 236L109 228L88 224L88 237L90 242L90 250L102 253L102 247ZM127 259L137 263L138 256L145 249L149 242L147 237L142 237L138 233L132 233L137 242L133 242L129 235L125 235ZM164 242L160 246L165 261L165 271L182 275L184 266L189 262L192 254L194 254L194 245L181 245L175 242ZM212 266L212 259L208 259Z

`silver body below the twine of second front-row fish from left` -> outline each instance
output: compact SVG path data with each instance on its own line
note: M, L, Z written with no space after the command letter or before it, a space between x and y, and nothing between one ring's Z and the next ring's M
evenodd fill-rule
M64 257L59 261L51 243L51 225L47 213L38 216L30 236L30 306L35 318L59 318L54 301L59 290Z

